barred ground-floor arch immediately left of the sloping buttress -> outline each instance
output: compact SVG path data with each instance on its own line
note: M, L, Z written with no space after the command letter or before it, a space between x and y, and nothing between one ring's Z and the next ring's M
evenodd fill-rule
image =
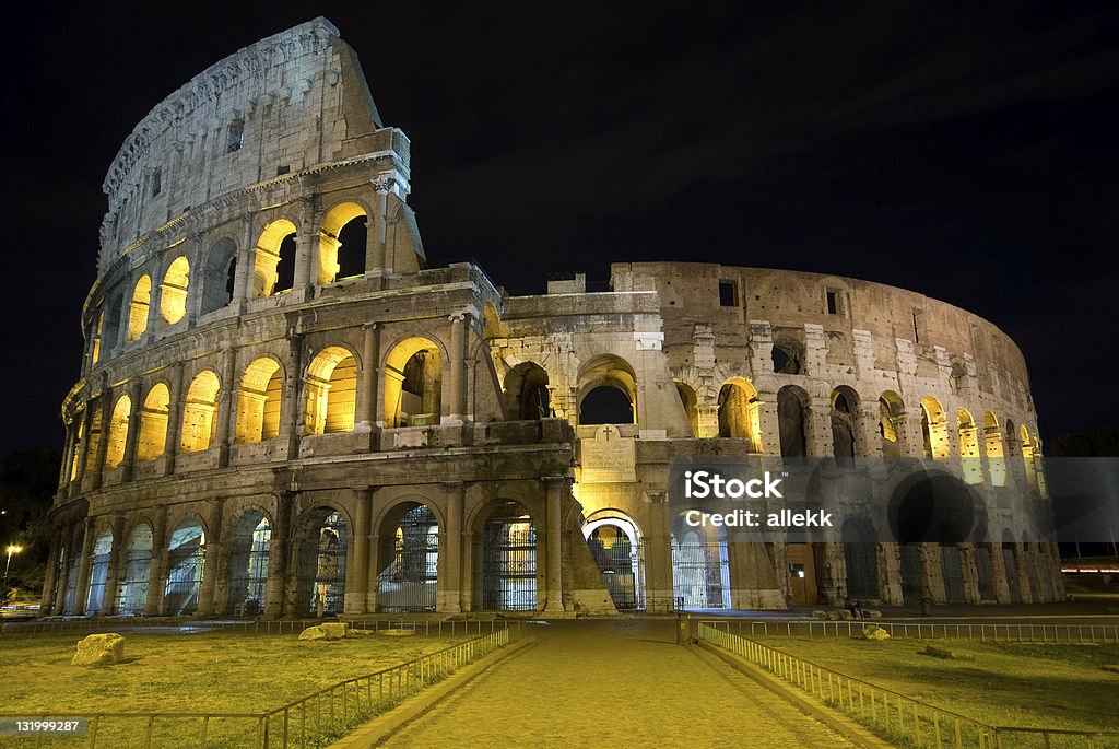
M536 525L519 502L500 502L486 516L481 582L487 611L536 609Z

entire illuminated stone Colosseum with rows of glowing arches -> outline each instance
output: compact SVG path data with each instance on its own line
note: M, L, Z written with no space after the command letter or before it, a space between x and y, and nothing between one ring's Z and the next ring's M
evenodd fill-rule
M429 261L411 180L407 137L321 18L135 127L103 185L46 611L1063 597L1026 365L990 322L867 281L697 262L510 296ZM709 456L837 474L920 459L977 498L982 533L694 527L669 466ZM864 502L888 500L869 486Z

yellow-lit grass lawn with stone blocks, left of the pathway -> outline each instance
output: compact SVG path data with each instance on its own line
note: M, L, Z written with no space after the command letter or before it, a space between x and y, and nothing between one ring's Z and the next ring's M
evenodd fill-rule
M125 634L126 662L101 668L70 665L78 635L0 638L0 710L58 717L97 712L263 712L467 639L363 635L308 643L297 637ZM223 728L219 723L213 723L208 747L242 746L231 734L255 731L252 723L242 722L238 728ZM199 727L200 722L194 721L192 727L175 730L196 737ZM143 746L142 724L117 730L131 732L126 746ZM170 725L161 728L157 723L154 737L154 747L198 746L194 738L189 742L175 738ZM121 737L110 740L105 736L104 743L102 738L98 734L98 747L125 746L116 743ZM0 737L0 747L25 746L19 741L23 739ZM76 742L55 739L49 746L56 743L73 747Z

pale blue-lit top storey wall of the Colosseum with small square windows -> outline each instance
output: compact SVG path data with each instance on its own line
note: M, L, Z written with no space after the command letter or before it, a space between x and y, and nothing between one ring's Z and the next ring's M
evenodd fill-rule
M223 195L394 147L356 54L328 20L262 39L191 78L125 139L102 186L98 270ZM406 149L402 157L406 168Z

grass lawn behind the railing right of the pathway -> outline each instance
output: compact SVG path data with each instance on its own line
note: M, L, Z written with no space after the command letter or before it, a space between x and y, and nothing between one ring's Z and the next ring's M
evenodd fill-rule
M760 638L839 673L990 725L1119 730L1119 645L933 640L970 659L921 655L915 639Z

